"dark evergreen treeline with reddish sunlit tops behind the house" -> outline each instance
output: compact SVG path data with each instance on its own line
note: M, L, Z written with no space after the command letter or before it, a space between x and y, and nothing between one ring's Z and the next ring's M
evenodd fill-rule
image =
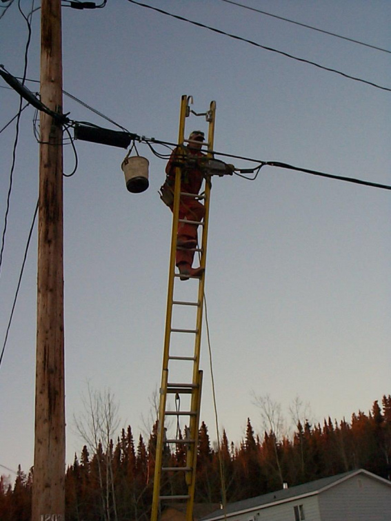
M139 521L150 518L156 424L148 440L135 441L131 427L123 429L107 450L99 443L66 470L66 521ZM166 449L165 466L183 465L185 453ZM208 427L199 429L196 502L219 503L259 496L283 487L364 468L383 478L391 473L391 396L375 401L367 414L359 411L351 422L310 425L298 422L292 436L276 436L271 429L254 435L250 419L239 446L225 432L220 448L212 447ZM181 473L163 473L163 487L171 494L185 493ZM221 484L223 475L223 487ZM33 471L19 467L12 487L0 480L0 520L30 521Z

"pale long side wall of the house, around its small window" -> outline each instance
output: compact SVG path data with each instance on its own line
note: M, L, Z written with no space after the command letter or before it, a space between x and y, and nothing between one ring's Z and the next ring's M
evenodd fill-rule
M294 505L303 505L305 521L322 521L319 515L317 496L294 500L283 504L274 504L252 513L230 516L228 521L294 521ZM390 521L390 519L388 520Z

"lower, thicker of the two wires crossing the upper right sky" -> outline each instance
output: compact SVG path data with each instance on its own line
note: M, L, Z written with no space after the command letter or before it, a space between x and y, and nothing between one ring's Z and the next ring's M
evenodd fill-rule
M293 54L288 54L288 52L283 52L283 51L274 49L272 47L267 47L266 45L261 45L261 43L257 43L255 41L239 37L236 34L230 34L229 32L225 32L225 31L222 31L220 29L216 29L216 28L210 27L210 25L205 25L204 23L200 23L200 22L196 22L194 20L189 20L188 18L180 17L179 14L172 14L171 12L163 11L162 9L155 8L155 7L152 7L152 6L148 6L146 3L137 2L135 0L128 0L128 2L134 3L137 6L145 7L145 8L148 8L148 9L152 9L154 11L160 12L161 14L166 14L168 17L172 17L172 18L175 18L177 20L186 21L188 23L191 23L192 25L197 25L197 27L202 27L202 28L208 29L208 30L210 30L212 32L217 32L218 34L222 34L223 36L226 36L226 37L229 37L229 38L233 38L233 39L239 40L239 41L244 41L245 43L250 43L250 45L254 45L255 47L259 47L261 49L268 50L268 51L271 51L271 52L277 52L277 54L281 54L282 56L285 56L287 58L290 58L290 59L293 59L293 60L296 60L296 61L301 61L302 63L308 63L309 65L314 65L314 67L317 67L319 69L326 70L328 72L334 72L335 74L339 74L340 76L343 76L344 78L351 79L353 81L359 81L361 83L365 83L366 85L370 85L371 87L391 92L391 88L383 87L382 85L377 85L377 83L373 83L372 81L367 81L367 80L364 80L364 79L361 79L361 78L357 78L357 76L351 76L350 74L346 74L345 72L341 72L341 71L339 71L337 69L332 69L330 67L325 67L324 65L320 65L319 63L316 63L314 61L310 61L310 60L306 60L304 58L299 58L299 57L293 56Z

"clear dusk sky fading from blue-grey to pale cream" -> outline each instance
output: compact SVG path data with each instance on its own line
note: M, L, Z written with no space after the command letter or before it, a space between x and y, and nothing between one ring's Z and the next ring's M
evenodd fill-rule
M146 3L391 88L389 53L221 0ZM241 3L391 50L385 0ZM22 4L27 14L32 3ZM27 74L36 80L39 16L34 12ZM14 1L0 20L0 63L15 76L23 73L27 37ZM19 98L2 80L0 86L1 128L17 114ZM101 10L63 9L63 88L130 132L170 142L177 140L182 94L194 97L196 112L215 100L220 152L391 184L391 92L126 0L109 0ZM67 96L64 111L115 128ZM28 108L20 123L0 276L1 347L37 202L33 118ZM189 131L206 128L195 116L186 124ZM14 136L14 123L0 135L1 230ZM87 382L111 389L121 425L131 425L135 438L150 426L171 233L157 194L164 161L139 145L150 161L150 188L129 194L121 172L126 150L75 144L79 167L64 179L67 462L83 445L72 417L82 410ZM67 145L65 172L73 167ZM261 432L253 393L270 395L287 419L299 396L318 421L350 420L390 394L390 196L272 167L256 181L214 181L205 291L219 422L230 441L240 442L248 417ZM0 464L16 470L20 463L25 471L34 447L36 280L35 229L0 367ZM205 340L202 353L201 418L215 440Z

